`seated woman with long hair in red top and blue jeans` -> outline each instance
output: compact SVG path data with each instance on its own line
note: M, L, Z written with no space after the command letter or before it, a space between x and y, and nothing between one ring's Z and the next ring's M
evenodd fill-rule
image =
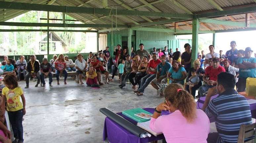
M66 83L66 79L67 79L67 71L65 70L66 69L66 63L65 63L65 60L64 60L64 55L63 54L60 54L57 58L57 60L55 61L55 68L56 68L56 78L57 78L57 84L60 85L60 73L64 74L64 84L67 84Z

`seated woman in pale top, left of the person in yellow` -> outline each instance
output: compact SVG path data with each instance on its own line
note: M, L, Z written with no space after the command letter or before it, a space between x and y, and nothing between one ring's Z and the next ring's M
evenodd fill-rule
M76 68L76 74L79 75L79 84L84 84L82 82L82 75L83 72L87 71L87 62L83 59L82 54L77 54L77 59L75 60L75 68Z

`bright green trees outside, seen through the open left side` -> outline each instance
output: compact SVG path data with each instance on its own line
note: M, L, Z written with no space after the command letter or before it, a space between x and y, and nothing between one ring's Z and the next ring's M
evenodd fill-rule
M29 11L20 16L17 16L13 19L8 20L8 22L27 22L27 23L46 23L47 20L37 21L38 16L37 11ZM61 12L50 12L49 18L62 19ZM47 18L47 12L40 12L40 18ZM74 19L66 15L66 19ZM50 20L50 23L62 23L61 20ZM75 23L75 21L67 21L67 23ZM16 26L0 26L0 29L47 29L46 27L16 27ZM51 27L50 27L51 29ZM84 30L84 28L57 28L53 29L68 29L68 30ZM79 42L75 45L75 35L76 32L55 32L63 41L67 44L67 53L77 53L80 52L85 47L85 40ZM16 40L15 40L16 34ZM36 43L36 40L42 40L43 32L1 32L0 33L0 51L2 55L30 55L35 54L36 49L34 47L39 47L39 43ZM85 39L85 34L83 33L82 39ZM6 43L6 38L9 37L9 43ZM41 38L41 39L38 39ZM5 42L5 43L4 43ZM15 45L17 43L17 50ZM38 44L38 45L36 45Z

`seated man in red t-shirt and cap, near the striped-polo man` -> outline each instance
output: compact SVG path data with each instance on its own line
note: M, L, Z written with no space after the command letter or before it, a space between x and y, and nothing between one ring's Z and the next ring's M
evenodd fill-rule
M203 75L203 81L205 84L199 87L199 97L202 96L203 93L208 91L209 88L216 86L217 84L217 76L221 72L226 72L225 68L220 65L219 58L213 58L212 66L208 66L205 69L205 73Z

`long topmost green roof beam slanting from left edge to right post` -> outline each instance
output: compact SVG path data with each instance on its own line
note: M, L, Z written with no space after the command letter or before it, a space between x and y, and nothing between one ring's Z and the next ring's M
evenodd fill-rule
M104 15L109 15L109 13L112 11L111 9L101 9L101 8L67 7L67 6L40 5L40 4L16 3L16 2L5 2L5 1L0 1L0 9L66 12L66 13L87 13L87 14L104 14ZM193 18L193 14L181 14L181 13L145 12L145 11L129 11L129 10L117 10L116 12L117 12L116 15L157 16L157 17L171 17L171 18L185 18L185 19Z

